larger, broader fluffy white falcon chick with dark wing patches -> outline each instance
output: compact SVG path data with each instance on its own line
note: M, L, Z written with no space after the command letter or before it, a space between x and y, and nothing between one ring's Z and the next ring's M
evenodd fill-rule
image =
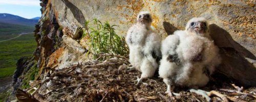
M219 49L209 36L205 18L192 18L185 31L175 31L162 41L159 75L172 96L174 86L203 87L220 64Z

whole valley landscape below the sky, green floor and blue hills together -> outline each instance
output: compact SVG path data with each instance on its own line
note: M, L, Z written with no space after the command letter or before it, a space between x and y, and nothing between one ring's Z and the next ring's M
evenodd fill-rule
M39 18L0 13L0 78L14 73L19 58L33 55L36 47L33 31Z

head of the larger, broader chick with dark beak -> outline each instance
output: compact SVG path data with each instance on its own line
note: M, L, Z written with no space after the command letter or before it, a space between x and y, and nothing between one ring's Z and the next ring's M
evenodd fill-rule
M186 32L206 36L209 33L209 26L206 19L203 17L190 19L186 25Z

